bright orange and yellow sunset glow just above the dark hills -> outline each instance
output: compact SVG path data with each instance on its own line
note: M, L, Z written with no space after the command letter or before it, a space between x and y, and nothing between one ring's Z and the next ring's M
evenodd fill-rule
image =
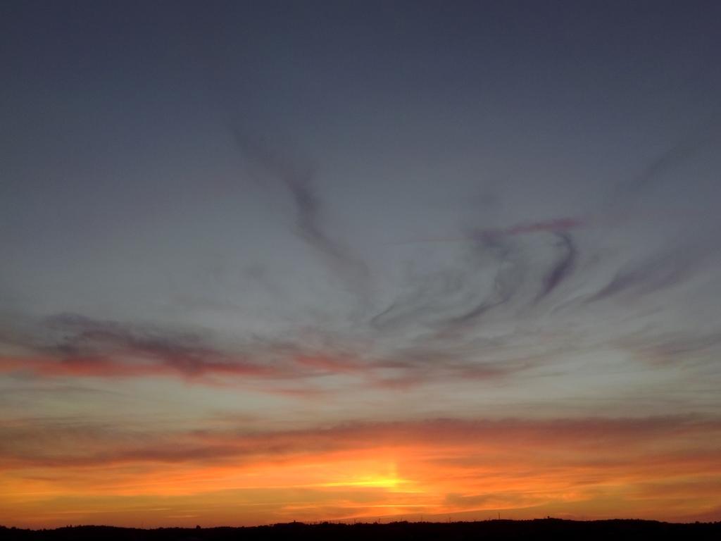
M399 434L263 436L252 457L108 459L21 465L0 475L0 524L155 527L353 519L534 518L552 514L691 520L719 516L721 430L713 425L519 426L428 438ZM606 430L615 433L606 434ZM673 443L663 433L673 431ZM344 440L345 437L345 440ZM311 450L337 438L341 449ZM699 439L706 440L699 448ZM394 439L389 443L388 439ZM589 445L593 439L593 448ZM694 451L683 444L694 446ZM292 447L281 452L280 447ZM671 472L671 473L670 473Z

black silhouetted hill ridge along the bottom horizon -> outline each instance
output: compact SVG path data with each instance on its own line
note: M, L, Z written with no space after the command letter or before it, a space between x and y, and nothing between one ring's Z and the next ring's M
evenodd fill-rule
M259 527L134 529L77 526L58 529L0 527L0 540L48 541L267 541L267 540L721 540L721 522L671 524L647 520L562 519L389 524L275 524Z

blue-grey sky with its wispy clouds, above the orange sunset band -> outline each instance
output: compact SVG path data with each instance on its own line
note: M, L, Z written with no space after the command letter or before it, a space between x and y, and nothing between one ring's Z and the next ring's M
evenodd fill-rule
M41 359L4 385L272 368L348 390L340 417L425 387L717 409L720 15L4 2L0 338ZM345 361L296 366L319 351Z

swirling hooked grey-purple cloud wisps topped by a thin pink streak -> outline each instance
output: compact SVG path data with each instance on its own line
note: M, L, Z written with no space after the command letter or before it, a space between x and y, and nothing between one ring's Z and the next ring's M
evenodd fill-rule
M420 242L464 240L467 249L445 268L424 281L407 286L389 307L371 318L376 328L397 329L425 319L436 330L472 330L488 312L512 299L526 308L549 296L570 277L578 260L578 247L570 230L584 226L578 218L521 223L505 229L475 229L458 239L425 239ZM518 242L516 237L533 242ZM554 242L549 242L553 239ZM549 263L540 263L540 253ZM534 283L536 292L531 291ZM519 297L523 294L524 297Z

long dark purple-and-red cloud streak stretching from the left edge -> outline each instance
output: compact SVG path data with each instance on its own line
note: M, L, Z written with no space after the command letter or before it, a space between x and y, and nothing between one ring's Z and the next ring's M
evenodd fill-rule
M0 370L43 378L175 377L220 386L253 382L256 389L296 397L331 392L322 386L326 377L344 377L352 388L384 389L475 373L472 364L443 351L427 352L429 362L418 363L418 352L410 349L361 352L334 340L322 336L314 346L304 335L286 335L221 345L211 335L64 313L41 320L30 333L14 335L12 343L22 353L1 355ZM518 370L513 365L486 368L485 377Z

